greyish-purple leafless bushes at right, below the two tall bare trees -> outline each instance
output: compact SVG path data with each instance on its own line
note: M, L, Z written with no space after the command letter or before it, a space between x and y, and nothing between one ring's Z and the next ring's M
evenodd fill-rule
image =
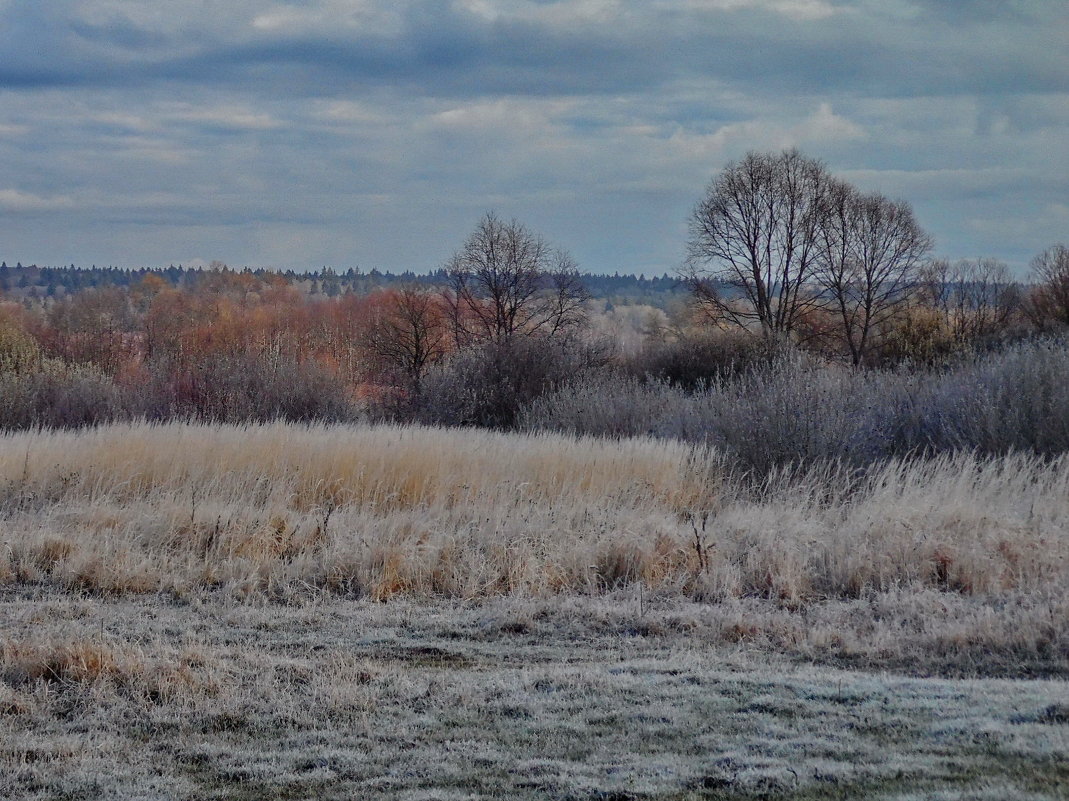
M528 430L703 442L755 473L960 450L1055 456L1069 452L1069 343L1028 342L914 371L786 354L694 392L601 375L536 399L521 421Z

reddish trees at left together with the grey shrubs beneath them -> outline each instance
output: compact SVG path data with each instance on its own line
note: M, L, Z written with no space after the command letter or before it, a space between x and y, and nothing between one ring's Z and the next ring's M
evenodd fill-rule
M408 287L331 297L276 274L213 271L189 287L150 274L129 288L0 303L0 376L24 378L5 387L9 425L62 423L56 398L47 413L17 406L76 376L155 419L347 418L361 399L418 391L450 346L440 294Z

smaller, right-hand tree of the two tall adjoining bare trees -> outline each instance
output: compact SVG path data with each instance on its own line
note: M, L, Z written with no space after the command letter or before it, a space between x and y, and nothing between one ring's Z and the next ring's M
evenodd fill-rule
M815 280L837 319L838 337L861 365L873 333L916 290L932 241L908 203L838 181L825 196L819 236Z

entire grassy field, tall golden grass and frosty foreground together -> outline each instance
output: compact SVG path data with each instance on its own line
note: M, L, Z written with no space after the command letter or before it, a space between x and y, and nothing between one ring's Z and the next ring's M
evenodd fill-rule
M1069 797L1069 461L0 436L0 796Z

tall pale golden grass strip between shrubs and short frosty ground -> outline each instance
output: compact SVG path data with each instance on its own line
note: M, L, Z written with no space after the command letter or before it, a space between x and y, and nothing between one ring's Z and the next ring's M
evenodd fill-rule
M387 600L629 584L791 605L1065 595L1069 461L969 455L761 489L708 449L393 426L0 436L0 583Z

